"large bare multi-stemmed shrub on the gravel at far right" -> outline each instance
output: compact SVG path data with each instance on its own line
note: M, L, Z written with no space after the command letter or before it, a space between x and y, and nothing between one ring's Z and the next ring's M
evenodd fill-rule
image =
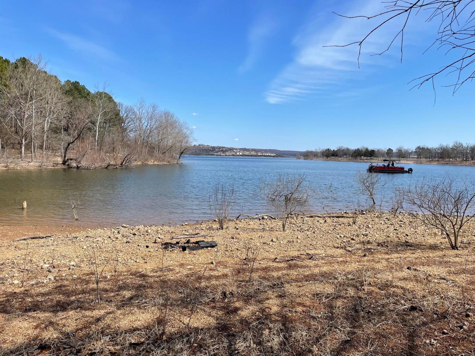
M440 229L447 237L450 247L458 250L461 244L460 233L474 216L474 184L457 184L448 176L440 181L423 179L414 188L404 189L414 218L422 223Z

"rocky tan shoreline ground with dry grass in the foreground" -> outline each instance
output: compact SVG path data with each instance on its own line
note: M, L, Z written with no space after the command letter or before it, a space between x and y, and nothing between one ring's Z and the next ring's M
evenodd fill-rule
M2 226L0 355L473 355L474 226L459 251L402 213Z

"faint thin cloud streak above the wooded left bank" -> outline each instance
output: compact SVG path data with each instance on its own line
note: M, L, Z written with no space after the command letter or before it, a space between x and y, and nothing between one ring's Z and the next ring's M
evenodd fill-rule
M64 42L64 44L74 51L81 52L87 56L99 57L103 60L118 60L119 57L104 46L98 45L93 41L76 36L66 32L59 32L52 28L46 29L51 36Z

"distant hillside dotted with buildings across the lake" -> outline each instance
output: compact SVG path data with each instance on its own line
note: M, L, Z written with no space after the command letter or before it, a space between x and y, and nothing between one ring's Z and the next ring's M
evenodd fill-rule
M303 156L303 151L274 150L274 149L253 149L236 148L225 146L194 145L187 153L190 156L259 156L259 157L296 157L297 154Z

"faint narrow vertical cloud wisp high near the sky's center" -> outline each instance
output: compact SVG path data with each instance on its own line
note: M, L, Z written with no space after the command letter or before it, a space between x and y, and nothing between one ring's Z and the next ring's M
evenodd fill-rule
M247 57L237 68L240 73L249 70L262 55L265 43L277 28L276 19L269 14L263 14L258 17L247 34Z

